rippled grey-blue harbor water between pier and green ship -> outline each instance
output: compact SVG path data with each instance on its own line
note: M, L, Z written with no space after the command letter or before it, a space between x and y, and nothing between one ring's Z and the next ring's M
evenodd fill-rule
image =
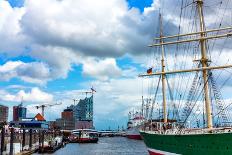
M67 144L53 155L148 155L148 152L142 140L104 137L96 144Z

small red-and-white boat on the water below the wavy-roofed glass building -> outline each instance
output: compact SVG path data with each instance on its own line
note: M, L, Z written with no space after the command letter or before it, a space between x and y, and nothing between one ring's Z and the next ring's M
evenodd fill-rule
M97 143L98 132L93 129L77 129L73 130L69 136L72 143Z

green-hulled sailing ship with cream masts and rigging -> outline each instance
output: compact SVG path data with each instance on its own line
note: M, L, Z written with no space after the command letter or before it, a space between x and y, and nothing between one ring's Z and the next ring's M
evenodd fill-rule
M152 102L151 106L151 110L160 111L159 107L153 109L154 104L159 101L162 103L160 106L161 112L155 113L151 111L156 119L145 122L140 129L140 134L150 155L232 154L232 127L231 121L229 121L231 119L231 110L228 108L230 104L223 100L224 94L220 92L222 89L218 87L215 78L216 71L228 71L232 65L216 65L208 55L209 44L231 37L232 26L221 28L222 25L220 24L219 28L206 29L203 14L204 2L204 0L195 0L186 6L180 7L183 10L187 9L188 6L192 6L190 8L196 10L194 18L196 15L198 17L194 21L197 21L197 23L191 26L197 28L193 28L190 32L183 30L183 33L179 31L177 35L164 36L163 19L161 13L159 14L159 36L154 39L155 43L149 46L157 47L160 52L161 71L152 72L149 69L147 73L139 75L139 77L159 77L156 90L159 89L160 83L162 84L162 97L159 98L158 91L155 91L154 102ZM187 28L187 30L189 29ZM171 48L170 45L172 45ZM187 50L192 49L194 51L195 49L192 56L196 54L199 59L192 62L193 67L190 69L188 66L186 66L187 69L183 66L181 69L175 68L176 64L174 64L174 69L168 70L170 68L167 67L168 64L165 64L168 61L165 50L172 49L186 54L180 51L184 46L187 47ZM175 55L173 55L173 58L176 58ZM178 61L174 61L174 63L178 63ZM216 73L218 73L218 76L225 76L221 72ZM231 72L229 74L231 76ZM181 78L183 75L184 77L190 76L188 80L191 80L192 84L190 81L184 81L184 77ZM174 84L171 85L170 81L168 81L171 77L174 77L173 79L176 79L180 86L183 85L183 90L189 88L187 95L182 95L182 92L178 92L182 90L174 87ZM226 82L226 80L224 81ZM169 99L167 99L166 90L170 91ZM179 95L174 98L175 95L173 94L178 93ZM230 94L229 97L231 97Z

